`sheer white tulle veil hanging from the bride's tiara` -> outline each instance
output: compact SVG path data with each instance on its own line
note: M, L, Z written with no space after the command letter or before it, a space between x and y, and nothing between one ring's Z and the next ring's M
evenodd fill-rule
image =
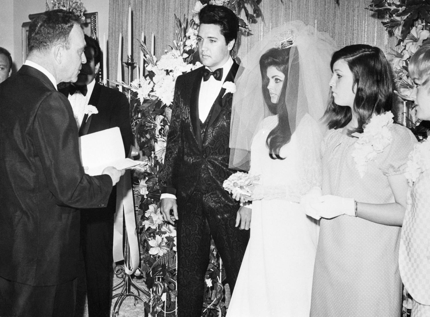
M288 61L288 65L284 65L287 69L286 83L276 104L270 100L267 83L263 83L264 77L267 78L267 67L263 76L260 65L263 55L274 47L279 47L277 50L283 51ZM230 168L249 169L252 138L263 127L265 117L280 114L279 107L286 109L289 137L305 114L319 121L329 96L330 60L336 50L328 34L318 32L301 21L288 22L273 29L250 49L235 80L237 91L233 94L231 114ZM320 126L322 130L326 129L323 123Z

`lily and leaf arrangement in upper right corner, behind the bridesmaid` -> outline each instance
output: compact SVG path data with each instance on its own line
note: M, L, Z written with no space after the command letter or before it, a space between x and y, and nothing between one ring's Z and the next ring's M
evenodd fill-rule
M382 22L390 35L398 39L392 49L392 66L400 98L412 101L410 95L414 84L408 74L409 60L430 35L430 2L427 0L372 0L366 8L373 12L386 14L388 21ZM412 103L404 103L404 124L415 134L415 116L412 115Z

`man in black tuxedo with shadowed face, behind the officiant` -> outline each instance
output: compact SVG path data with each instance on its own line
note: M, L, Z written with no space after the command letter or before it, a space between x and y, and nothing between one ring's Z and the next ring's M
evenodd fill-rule
M72 106L79 136L117 126L123 138L125 156L128 156L132 140L129 102L122 92L96 83L101 49L92 37L85 35L85 42L86 63L82 65L78 80L60 92L68 97ZM98 113L86 113L88 105L97 108ZM109 316L111 308L116 189L114 186L106 207L81 210L81 244L89 317Z

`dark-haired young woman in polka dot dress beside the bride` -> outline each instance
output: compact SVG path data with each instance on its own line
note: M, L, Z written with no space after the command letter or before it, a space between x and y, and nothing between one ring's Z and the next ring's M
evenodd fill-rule
M324 195L305 204L308 215L322 217L310 316L399 316L404 169L416 139L393 123L393 80L379 48L346 46L330 66Z

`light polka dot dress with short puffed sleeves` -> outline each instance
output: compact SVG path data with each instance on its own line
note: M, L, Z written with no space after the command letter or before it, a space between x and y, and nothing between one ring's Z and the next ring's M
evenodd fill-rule
M390 132L391 144L367 163L360 177L352 157L357 138L330 130L322 148L323 193L364 203L393 203L387 176L403 172L416 139L400 125L394 124ZM399 237L396 226L348 215L321 219L310 316L399 316Z

